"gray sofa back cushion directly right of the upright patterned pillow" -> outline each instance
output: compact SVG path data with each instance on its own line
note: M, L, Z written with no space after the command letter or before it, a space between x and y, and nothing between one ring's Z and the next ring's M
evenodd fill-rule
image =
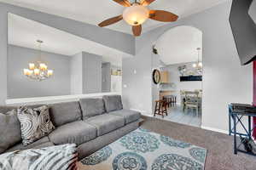
M68 122L82 120L79 101L57 103L49 105L49 116L55 127Z

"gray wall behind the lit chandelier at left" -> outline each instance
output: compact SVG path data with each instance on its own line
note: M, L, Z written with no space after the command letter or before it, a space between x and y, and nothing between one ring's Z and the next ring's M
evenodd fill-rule
M70 57L61 54L43 52L42 59L49 69L54 70L53 77L42 82L30 80L23 75L28 63L35 61L39 51L9 45L8 55L8 98L30 98L70 94Z

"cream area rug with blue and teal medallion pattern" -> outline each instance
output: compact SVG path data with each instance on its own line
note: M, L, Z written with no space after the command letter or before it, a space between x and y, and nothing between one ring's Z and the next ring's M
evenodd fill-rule
M79 170L202 170L207 150L143 128L79 162Z

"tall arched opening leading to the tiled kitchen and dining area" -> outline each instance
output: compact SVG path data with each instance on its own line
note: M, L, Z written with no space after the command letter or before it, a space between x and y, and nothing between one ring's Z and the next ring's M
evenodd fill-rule
M161 63L161 82L153 85L153 103L167 99L166 120L201 127L202 36L202 31L195 27L177 26L154 42L153 57Z

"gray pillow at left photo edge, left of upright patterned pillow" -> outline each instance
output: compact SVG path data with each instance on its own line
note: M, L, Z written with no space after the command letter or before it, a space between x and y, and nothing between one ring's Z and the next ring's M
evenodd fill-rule
M21 140L17 111L0 113L0 154Z

